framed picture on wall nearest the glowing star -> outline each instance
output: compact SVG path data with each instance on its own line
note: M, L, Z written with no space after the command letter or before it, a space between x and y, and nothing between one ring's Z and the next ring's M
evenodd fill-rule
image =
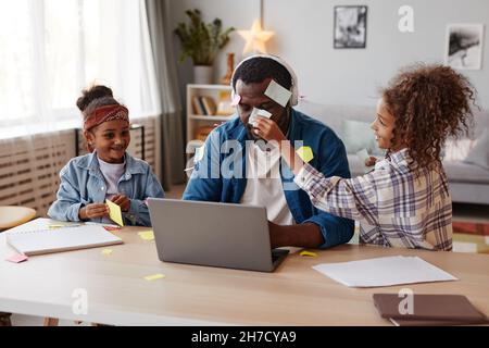
M335 7L334 47L365 48L366 17L365 5Z

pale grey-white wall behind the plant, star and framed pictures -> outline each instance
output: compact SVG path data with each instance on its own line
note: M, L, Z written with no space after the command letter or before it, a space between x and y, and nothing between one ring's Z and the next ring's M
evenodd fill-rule
M368 5L366 49L333 48L333 8L338 4ZM398 9L403 4L414 9L414 33L398 29ZM224 26L238 29L249 29L260 14L259 0L173 1L173 27L192 8L201 10L205 21L220 17ZM375 104L378 88L399 67L416 61L442 62L448 23L482 23L482 69L463 73L477 88L479 104L489 109L488 0L264 0L263 20L265 28L275 32L269 52L296 70L301 95L314 102L358 105ZM234 33L215 64L216 78L225 74L225 53L235 52L239 61L243 46ZM190 67L190 62L179 66L181 86L191 82Z

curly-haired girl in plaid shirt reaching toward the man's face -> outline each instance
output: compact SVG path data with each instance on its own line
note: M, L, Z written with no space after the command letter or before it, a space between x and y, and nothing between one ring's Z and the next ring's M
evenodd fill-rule
M452 200L440 151L447 137L468 130L474 101L471 83L449 66L402 71L383 90L371 126L387 156L351 179L325 177L304 163L268 119L260 117L254 132L278 141L315 207L360 221L362 244L451 250Z

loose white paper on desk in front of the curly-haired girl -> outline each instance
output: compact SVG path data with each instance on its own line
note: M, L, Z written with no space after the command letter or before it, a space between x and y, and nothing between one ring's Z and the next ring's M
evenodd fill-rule
M322 263L313 269L349 287L378 287L457 279L418 257L398 256Z

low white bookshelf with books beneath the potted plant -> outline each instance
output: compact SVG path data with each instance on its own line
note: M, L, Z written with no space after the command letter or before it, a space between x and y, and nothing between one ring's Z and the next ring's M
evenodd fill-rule
M226 95L227 102L230 102L231 87L227 85L187 85L187 142L196 139L196 130L202 126L214 126L222 122L229 121L229 115L208 115L196 114L192 105L193 97L212 97L218 105L220 100Z

